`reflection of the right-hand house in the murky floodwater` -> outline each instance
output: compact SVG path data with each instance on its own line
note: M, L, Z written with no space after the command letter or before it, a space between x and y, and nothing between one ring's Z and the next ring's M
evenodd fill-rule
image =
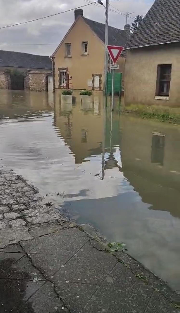
M159 128L163 133L168 132L168 136L159 136L153 132L157 122L123 116L121 127L124 176L142 201L152 205L150 209L168 211L180 217L180 151L177 145L180 129L161 124ZM159 166L160 163L163 166Z

